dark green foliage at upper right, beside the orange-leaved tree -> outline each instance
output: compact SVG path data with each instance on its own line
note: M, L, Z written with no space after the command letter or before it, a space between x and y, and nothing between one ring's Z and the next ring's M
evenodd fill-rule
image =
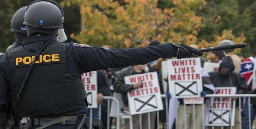
M234 37L244 39L240 41L234 39L236 43L247 43L241 55L250 56L254 52L256 42L256 24L254 24L256 23L256 1L206 0L206 2L202 10L197 12L198 15L205 17L203 21L205 26L198 34L199 40L215 42L215 35L231 33ZM230 32L223 32L223 30L230 30ZM232 36L225 38L233 39Z

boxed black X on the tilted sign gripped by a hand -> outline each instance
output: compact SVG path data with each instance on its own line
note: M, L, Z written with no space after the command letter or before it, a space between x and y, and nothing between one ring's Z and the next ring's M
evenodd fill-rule
M156 95L134 98L136 112L157 108Z

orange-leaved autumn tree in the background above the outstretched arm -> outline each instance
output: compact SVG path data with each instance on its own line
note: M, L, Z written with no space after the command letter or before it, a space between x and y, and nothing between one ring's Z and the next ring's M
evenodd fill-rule
M157 0L73 1L62 4L80 6L84 29L71 35L80 43L115 47L145 46L150 40L197 43L198 31L204 25L193 10L204 1L170 1L172 8L157 7Z

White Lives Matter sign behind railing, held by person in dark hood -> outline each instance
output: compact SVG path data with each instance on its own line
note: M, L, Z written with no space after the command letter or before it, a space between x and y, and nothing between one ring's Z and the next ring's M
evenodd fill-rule
M216 94L236 94L236 87L215 87ZM215 97L206 118L207 126L234 126L235 103L231 97ZM233 106L232 106L233 105Z

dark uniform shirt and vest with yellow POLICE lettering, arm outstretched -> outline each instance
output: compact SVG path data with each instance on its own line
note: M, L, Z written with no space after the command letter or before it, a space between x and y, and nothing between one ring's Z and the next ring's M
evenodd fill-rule
M36 51L50 36L25 38L23 45L0 55L0 107L16 105L17 92ZM166 43L145 48L106 50L77 43L52 42L36 61L24 89L16 116L59 117L86 114L81 74L99 69L145 64L173 57ZM2 109L0 109L2 110ZM16 110L15 107L13 110Z

